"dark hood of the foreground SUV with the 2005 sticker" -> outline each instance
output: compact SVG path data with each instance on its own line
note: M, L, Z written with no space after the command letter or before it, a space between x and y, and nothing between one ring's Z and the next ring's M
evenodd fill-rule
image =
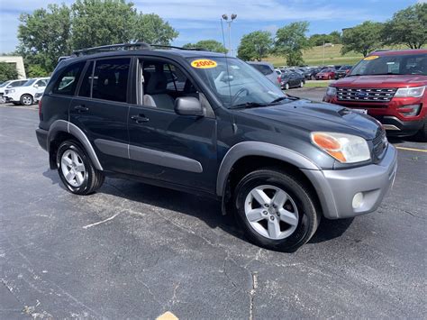
M308 132L349 133L372 140L380 128L377 120L340 105L296 100L283 105L242 109L242 113L267 118Z

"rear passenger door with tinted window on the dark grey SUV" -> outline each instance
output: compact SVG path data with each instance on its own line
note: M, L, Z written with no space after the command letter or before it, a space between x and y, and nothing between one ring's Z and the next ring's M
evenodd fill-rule
M89 60L78 96L69 107L71 123L86 134L106 171L131 173L128 158L128 84L132 59Z

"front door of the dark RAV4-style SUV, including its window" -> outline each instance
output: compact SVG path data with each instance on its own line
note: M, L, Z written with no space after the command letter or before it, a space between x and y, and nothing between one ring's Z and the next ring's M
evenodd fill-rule
M179 96L199 97L194 82L177 64L141 59L140 104L129 112L132 171L186 187L213 191L216 183L216 120L213 112L203 117L178 115ZM212 110L211 110L212 111Z

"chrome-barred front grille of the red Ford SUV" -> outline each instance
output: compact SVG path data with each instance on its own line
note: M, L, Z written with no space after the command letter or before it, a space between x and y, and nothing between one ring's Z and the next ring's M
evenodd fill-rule
M339 101L389 102L395 91L395 88L337 87L337 98Z

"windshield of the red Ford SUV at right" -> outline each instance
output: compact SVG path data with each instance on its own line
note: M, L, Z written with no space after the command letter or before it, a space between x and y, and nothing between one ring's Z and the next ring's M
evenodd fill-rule
M368 56L351 70L350 76L424 75L427 76L427 54Z

